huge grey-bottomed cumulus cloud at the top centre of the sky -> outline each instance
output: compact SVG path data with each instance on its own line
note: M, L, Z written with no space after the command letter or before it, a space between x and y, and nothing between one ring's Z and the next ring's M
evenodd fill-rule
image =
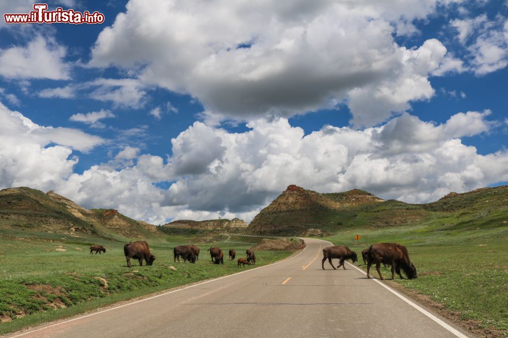
M431 72L460 69L437 40L406 49L393 37L449 3L131 0L99 35L90 65L189 93L208 116L291 116L346 102L355 126L371 126L431 97Z

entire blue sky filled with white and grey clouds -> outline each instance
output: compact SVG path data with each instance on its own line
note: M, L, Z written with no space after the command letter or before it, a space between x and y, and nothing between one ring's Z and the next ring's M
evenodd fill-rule
M105 20L1 20L0 189L164 224L507 184L505 0L47 4Z

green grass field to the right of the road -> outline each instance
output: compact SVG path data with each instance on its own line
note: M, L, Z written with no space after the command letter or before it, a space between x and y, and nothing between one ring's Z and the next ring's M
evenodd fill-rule
M474 319L508 334L508 227L498 216L436 214L415 226L355 227L326 239L356 251L357 265L364 269L360 252L370 244L405 245L419 277L396 277L396 282L459 311L464 320ZM361 236L359 241L354 240L356 234ZM370 274L378 278L375 267ZM390 278L390 268L382 268L382 274Z

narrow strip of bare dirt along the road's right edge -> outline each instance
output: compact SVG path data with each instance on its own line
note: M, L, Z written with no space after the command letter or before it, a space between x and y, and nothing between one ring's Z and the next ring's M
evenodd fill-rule
M420 274L421 275L421 274ZM479 321L473 319L462 319L461 313L459 311L450 311L447 310L443 304L438 303L431 299L428 295L417 293L416 291L406 289L402 285L394 281L386 281L391 287L400 291L401 293L410 296L415 299L417 302L425 305L426 307L434 310L439 315L447 318L448 320L454 322L458 326L462 327L468 332L476 336L481 336L485 338L496 338L496 337L504 337L505 335L501 330L497 330L495 328L485 328L482 327Z

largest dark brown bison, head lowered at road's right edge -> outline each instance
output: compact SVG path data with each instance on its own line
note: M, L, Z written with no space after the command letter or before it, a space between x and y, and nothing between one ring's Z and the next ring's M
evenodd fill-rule
M398 243L376 243L369 247L367 253L367 278L370 278L370 266L374 263L380 279L384 279L379 270L381 263L392 267L392 279L395 278L395 272L397 272L401 279L404 279L400 274L400 269L404 270L408 279L418 277L415 265L411 263L406 247Z

